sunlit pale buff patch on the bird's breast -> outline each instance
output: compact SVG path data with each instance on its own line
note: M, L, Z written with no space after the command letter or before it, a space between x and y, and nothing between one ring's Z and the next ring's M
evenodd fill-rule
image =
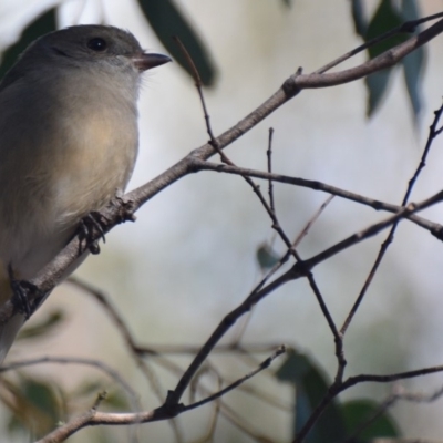
M59 125L64 135L51 182L56 219L70 224L125 188L137 153L136 114L92 103Z

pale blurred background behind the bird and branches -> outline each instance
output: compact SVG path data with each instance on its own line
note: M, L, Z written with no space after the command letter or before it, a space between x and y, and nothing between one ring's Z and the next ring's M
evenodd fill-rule
M379 3L364 2L368 17ZM421 16L440 12L443 7L436 0L416 3ZM262 103L299 66L309 73L362 43L353 27L350 1L176 0L175 4L199 35L215 69L205 96L216 135ZM78 23L113 24L131 30L144 48L167 53L135 0L3 0L0 49L18 40L30 21L53 6L59 7L60 28ZM388 92L371 117L367 115L368 91L363 81L307 90L229 146L226 154L239 166L266 169L268 130L272 127L275 172L400 204L420 161L433 111L442 102L441 52L442 37L426 47L419 113L411 106L403 72L394 70ZM340 69L365 59L363 52ZM146 75L140 99L140 157L130 188L161 174L207 141L194 82L178 63ZM436 140L414 188L413 202L441 189L442 164L442 140ZM264 192L266 186L262 183ZM291 238L327 198L320 192L282 184L275 184L275 196L280 223ZM423 215L439 222L442 209L436 206ZM298 250L309 258L384 216L334 198ZM198 347L258 282L260 245L272 245L277 255L285 253L270 225L257 197L240 177L202 172L181 179L150 200L137 213L135 224L116 227L106 236L102 253L90 257L76 276L109 295L140 344ZM315 269L320 290L339 326L384 236L382 233ZM384 374L442 364L442 267L441 243L427 231L402 223L346 337L347 374ZM64 284L30 326L54 311L63 312L63 321L43 339L18 341L6 363L42 356L96 358L119 370L135 387L144 408L161 404L137 371L114 324L92 297ZM287 343L308 354L327 377L334 375L333 338L305 280L270 295L255 308L248 323L241 326L246 326L245 346ZM229 342L236 331L238 328L224 342ZM192 354L181 354L174 361L185 368ZM228 380L236 380L254 368L238 354L216 354L212 361ZM152 358L148 363L165 395L175 387L177 374L165 371ZM279 365L276 361L250 385L278 398L288 406L286 410L244 393L230 393L225 400L239 411L241 422L257 433L272 441L289 441L293 390L274 377ZM35 365L27 371L42 379L51 377L66 395L73 396L85 379L99 378L96 370L80 365ZM422 393L432 393L442 384L443 374L401 382L403 388ZM109 385L112 389L111 381ZM208 385L215 387L210 380ZM391 384L367 383L348 390L342 399L383 401L391 392ZM87 399L89 402L79 405L79 411L91 406L94 392ZM431 404L400 402L391 413L404 436L439 439L443 435L442 406L442 400ZM202 439L212 408L178 419L183 441ZM11 429L10 410L2 408L1 412L3 434L11 435L11 441L28 441L19 431L7 431L8 425ZM144 425L140 432L141 441L176 441L167 423ZM81 431L70 441L125 439L128 436L124 429L94 429ZM2 441L8 440L2 437ZM254 440L222 418L213 441Z

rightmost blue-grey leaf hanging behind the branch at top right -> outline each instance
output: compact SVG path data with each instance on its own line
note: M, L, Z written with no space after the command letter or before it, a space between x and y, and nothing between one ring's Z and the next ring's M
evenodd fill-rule
M404 20L416 20L421 16L415 0L403 0L401 12ZM425 60L424 51L424 47L421 47L408 56L405 56L401 62L403 66L403 75L406 83L409 99L415 117L419 115L422 109L420 81L422 78Z

